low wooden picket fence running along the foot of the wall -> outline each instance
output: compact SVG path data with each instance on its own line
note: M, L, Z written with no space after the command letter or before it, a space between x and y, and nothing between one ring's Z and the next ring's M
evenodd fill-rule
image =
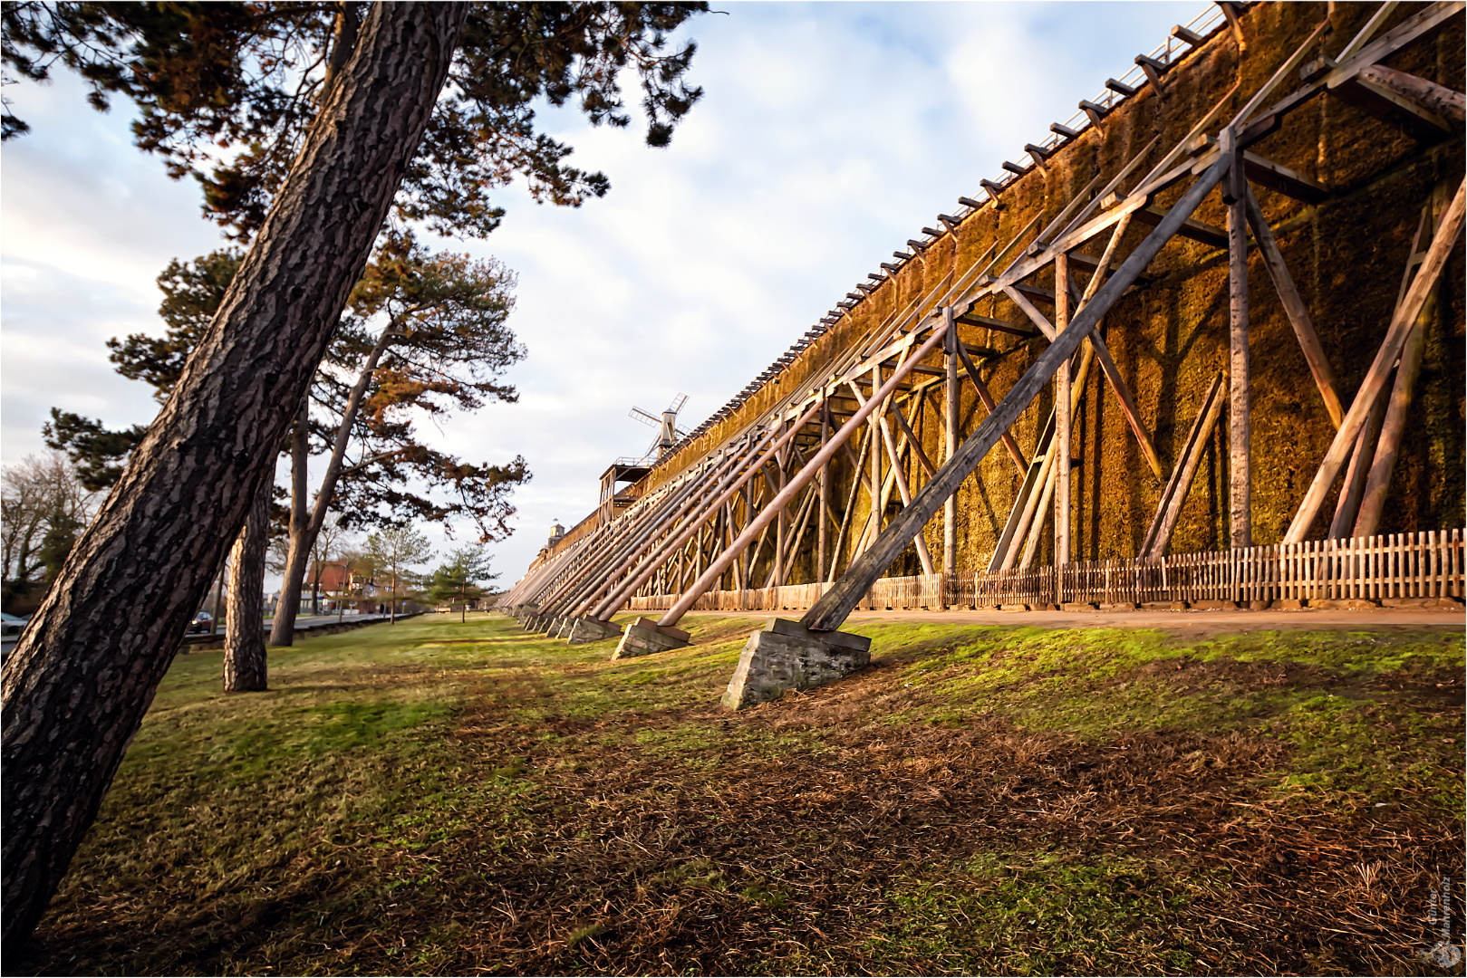
M1464 595L1464 531L1310 540L1153 560L1087 560L1061 567L882 578L857 609L1144 604L1150 601L1289 601L1458 598ZM709 591L701 611L783 611L813 606L830 584ZM678 595L634 597L634 611L663 611Z

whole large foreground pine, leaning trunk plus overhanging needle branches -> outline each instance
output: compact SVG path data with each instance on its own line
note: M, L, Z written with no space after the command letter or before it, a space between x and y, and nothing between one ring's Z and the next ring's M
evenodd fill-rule
M0 6L7 69L44 79L59 62L91 82L95 106L132 98L139 145L179 176L198 170L205 205L251 238L189 368L6 663L7 953L95 817L389 217L478 235L500 217L489 194L518 177L553 202L604 192L604 177L562 166L569 148L535 132L533 104L575 98L593 122L628 125L632 69L647 141L665 145L701 94L684 81L692 45L666 53L667 32L701 9ZM3 135L23 130L4 116Z

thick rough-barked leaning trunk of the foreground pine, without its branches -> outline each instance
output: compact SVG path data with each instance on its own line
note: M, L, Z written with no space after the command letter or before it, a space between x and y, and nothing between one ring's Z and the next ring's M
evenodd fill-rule
M35 927L270 477L443 88L462 4L377 4L167 403L3 680L6 953Z

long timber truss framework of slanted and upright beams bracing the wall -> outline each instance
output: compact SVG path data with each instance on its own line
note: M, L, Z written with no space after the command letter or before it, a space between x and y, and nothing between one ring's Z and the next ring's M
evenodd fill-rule
M1222 6L1229 16L1219 22L1219 32L1238 31L1234 7L1245 4ZM1376 534L1422 364L1423 323L1461 235L1464 189L1445 186L1426 201L1395 312L1364 381L1347 396L1254 188L1306 204L1329 191L1257 155L1253 147L1320 95L1344 98L1407 130L1435 133L1438 141L1461 139L1461 92L1382 62L1454 19L1460 22L1464 4L1424 4L1382 31L1395 7L1383 4L1335 57L1309 60L1328 38L1328 21L1322 22L1267 81L1251 92L1241 91L1240 82L1175 145L1152 139L1112 173L1097 173L1043 226L1036 216L977 260L961 268L955 264L942 282L836 349L827 364L791 384L767 411L675 478L645 491L615 519L568 538L500 606L528 609L530 628L571 635L575 622L604 626L635 595L675 595L657 622L657 628L672 629L706 592L780 587L798 578L824 582L801 625L832 632L904 556L914 556L923 575L958 570L955 494L999 444L1020 488L987 570L1030 569L1050 541L1053 565L1064 569L1071 565L1074 532L1072 421L1093 374L1103 378L1137 456L1162 487L1137 557L1166 553L1223 416L1229 540L1234 548L1251 547L1250 238L1309 365L1306 383L1335 427L1282 543L1306 540L1341 475L1345 485L1328 535ZM1204 41L1178 31L1177 37L1194 47ZM1141 84L1160 88L1169 65L1155 57L1138 57L1137 63L1144 72ZM1111 88L1121 95L1134 92L1124 82ZM1287 88L1292 91L1279 97ZM1109 107L1086 106L1081 103L1090 123L1105 125ZM1058 125L1055 132L1061 142L1077 135ZM1005 166L1015 174L1043 167L1056 145L1030 145L1028 152L1030 167ZM968 214L1003 205L1005 185L984 186L989 199L962 198ZM1225 227L1194 217L1213 192L1226 208ZM968 214L943 216L943 229L924 230L940 236ZM1105 317L1124 295L1143 289L1153 260L1182 239L1206 242L1225 255L1229 353L1226 372L1210 377L1185 440L1175 457L1166 459L1106 345ZM910 242L917 251L930 243ZM898 257L905 261L914 254ZM890 274L899 267L885 265ZM873 279L879 286L882 279ZM852 293L841 315L871 289ZM1017 315L995 315L1000 304ZM964 328L970 339L964 339ZM983 377L980 364L992 359L993 350L973 342L980 330L1043 345L1008 390L990 390L992 377ZM961 411L964 391L983 406L984 416L976 425ZM1039 435L1025 455L1014 425L1042 391L1052 393L1047 419L1036 427ZM934 424L940 425L939 438L932 438ZM939 457L924 444L940 446ZM929 541L923 532L939 512L940 550L936 537ZM1052 538L1046 526L1052 526Z

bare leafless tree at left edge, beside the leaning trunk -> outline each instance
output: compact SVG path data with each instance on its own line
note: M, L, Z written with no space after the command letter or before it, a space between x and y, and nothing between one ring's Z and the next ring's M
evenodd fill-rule
M0 477L6 611L28 611L60 572L91 518L95 496L60 452L29 455Z

